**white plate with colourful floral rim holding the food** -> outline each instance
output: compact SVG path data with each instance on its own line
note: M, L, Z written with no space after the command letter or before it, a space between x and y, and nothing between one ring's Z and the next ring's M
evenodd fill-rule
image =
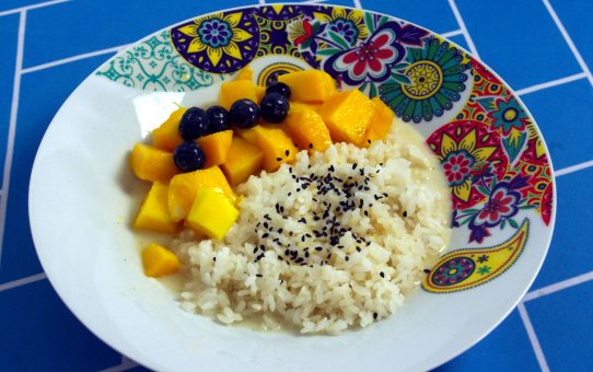
M376 13L336 7L276 5L234 9L213 16L226 22L233 32L243 30L251 35L246 38L245 34L232 33L237 48L244 54L240 62L235 58L236 63L228 65L225 71L234 74L232 69L251 62L260 80L265 80L270 69L311 68L299 56L329 48L327 44L318 43L317 49L312 50L311 42L322 37L335 40L330 25L350 22L348 25L358 31L358 36L338 39L350 44L342 45L342 49L336 47L333 53L327 51L321 68L334 74L340 68L345 69L340 79L345 85L359 85L364 79L374 79L362 90L371 94L376 89L375 93L381 93L392 104L407 89L407 104L394 106L400 116L405 116L409 105L422 103L420 98L410 98L412 89L418 88L418 75L415 78L412 72L426 73L427 66L437 66L441 78L462 82L458 96L449 103L443 101L441 111L433 107L425 116L407 116L405 119L418 121L418 129L433 146L443 165L463 151L473 156L474 162L489 153L486 162L493 166L493 173L482 172L488 187L486 191L495 195L495 190L503 189L500 191L504 194L502 196L519 195L519 199L513 199L513 208L516 207L513 204L520 202L524 206L539 200L540 204L531 209L511 208L508 218L500 214L497 221L495 214L485 212L490 198L487 193L482 193L481 198L476 194L480 193L479 170L476 168L474 174L464 171L462 175L465 183L472 176L476 177L469 182L469 194L464 188L465 184L456 185L453 178L452 197L456 200L455 217L461 225L454 229L451 251L473 248L464 253L465 256L475 254L469 258L474 265L472 272L466 272L468 275L464 278L455 277L451 266L446 266L457 263L452 261L456 259L455 253L447 254L441 263L445 266L440 266L444 267L441 277L435 277L434 272L439 271L435 267L433 275L427 276L425 289L409 297L399 313L364 329L336 337L258 333L222 326L207 317L182 311L171 290L142 274L138 237L129 229L129 221L147 185L132 177L127 156L136 142L143 140L167 117L176 107L175 103L198 106L214 103L220 80L230 77L212 70L220 70L226 60L233 61L233 51L218 50L222 56L219 65L214 60L217 50L212 51L213 47L188 51L190 39L200 36L185 35L187 37L184 38L179 33L183 23L137 43L90 75L60 108L39 147L31 177L31 226L43 267L72 312L94 334L124 354L155 370L175 371L426 370L457 356L488 334L514 307L535 278L546 255L555 219L556 195L547 149L519 97L455 45L409 23ZM281 31L292 33L290 37L298 44L296 49L291 49L290 42L286 40L287 34L281 36L284 39L279 36L270 38L280 49L260 48L263 37L270 36L265 28L266 22L271 22L269 19L275 19ZM294 31L298 30L295 25L300 22L302 26L304 20L321 28L313 27L311 34L299 35ZM191 24L191 20L187 22ZM391 77L381 75L381 71L371 74L369 70L346 77L347 71L353 69L336 63L338 55L354 50L363 43L379 43L380 32L396 35L397 40L392 40L394 44L389 47L395 53L404 53L402 58L384 61ZM259 49L245 48L251 45L249 40L257 42L252 47L255 45L261 49L261 56L254 59L255 50ZM444 53L458 57L456 66L463 65L463 68L452 73L451 70L445 71L437 59L430 60L432 57L429 55L422 57L419 54L420 59L411 57L412 49L428 50L430 43L437 43L435 46L442 47ZM270 56L271 51L277 55ZM196 65L211 71L191 66L188 62L191 56L196 57ZM336 56L334 62L330 60L333 56ZM393 80L396 79L393 75L398 79L407 75L409 81L404 84ZM437 77L437 83L441 79L439 74L433 77ZM431 94L443 93L438 86L444 86L442 83L446 79L440 80L441 85L429 86L429 90L438 91L431 91ZM484 100L478 102L476 97ZM509 109L519 115L516 120L509 116L513 114ZM484 112L481 117L477 116L480 111ZM501 121L504 118L508 120ZM530 131L530 127L535 130ZM472 128L476 138L472 137ZM515 132L511 133L513 130ZM445 132L450 133L449 139L443 136ZM508 141L511 136L523 138L522 146L513 148ZM486 142L492 138L495 150L485 150L488 148ZM533 167L528 167L530 164ZM532 176L525 185L510 184L518 174ZM497 189L491 184L495 178L499 185ZM543 189L537 189L539 184L536 182L543 185L539 186ZM533 187L539 199L527 197L527 187ZM463 199L466 197L477 199L465 202ZM460 216L466 217L462 219ZM463 223L465 219L469 221ZM501 229L504 219L507 221ZM522 235L525 244L515 247L518 255L508 264L484 269L486 264L479 256L493 246L508 248L509 240L524 232L520 229L523 221L528 221L528 228ZM485 231L490 235L485 235ZM480 281L479 270L486 270L480 275L488 280ZM452 282L446 283L446 280ZM434 287L435 283L442 286Z

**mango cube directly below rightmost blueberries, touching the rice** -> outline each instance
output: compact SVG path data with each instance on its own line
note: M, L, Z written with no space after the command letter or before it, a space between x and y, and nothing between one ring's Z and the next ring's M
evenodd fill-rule
M286 131L265 126L254 128L256 128L257 147L264 153L263 164L267 172L275 172L283 163L290 163L294 160L299 149Z

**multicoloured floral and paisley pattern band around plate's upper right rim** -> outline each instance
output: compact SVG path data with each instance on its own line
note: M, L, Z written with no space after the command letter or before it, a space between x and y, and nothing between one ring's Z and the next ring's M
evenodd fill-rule
M425 290L449 293L493 279L525 247L530 221L550 224L553 171L520 100L466 51L402 20L316 4L230 10L151 36L96 73L137 89L187 91L251 62L267 84L279 73L322 69L340 89L380 96L426 135L451 188L455 241L473 247L453 247L427 269Z

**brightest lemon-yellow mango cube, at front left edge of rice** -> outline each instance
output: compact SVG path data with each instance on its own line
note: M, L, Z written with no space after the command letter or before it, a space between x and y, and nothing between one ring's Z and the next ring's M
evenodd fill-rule
M237 217L239 210L226 197L210 187L200 187L187 222L196 231L220 241Z

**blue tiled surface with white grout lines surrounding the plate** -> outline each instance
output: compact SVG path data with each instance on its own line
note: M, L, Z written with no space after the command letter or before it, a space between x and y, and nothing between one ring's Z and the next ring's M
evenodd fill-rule
M593 2L333 2L416 22L477 53L531 109L557 170L556 233L531 291L490 335L438 371L593 370ZM0 2L1 370L144 371L86 330L45 279L28 230L31 166L61 103L117 47L200 13L253 3Z

